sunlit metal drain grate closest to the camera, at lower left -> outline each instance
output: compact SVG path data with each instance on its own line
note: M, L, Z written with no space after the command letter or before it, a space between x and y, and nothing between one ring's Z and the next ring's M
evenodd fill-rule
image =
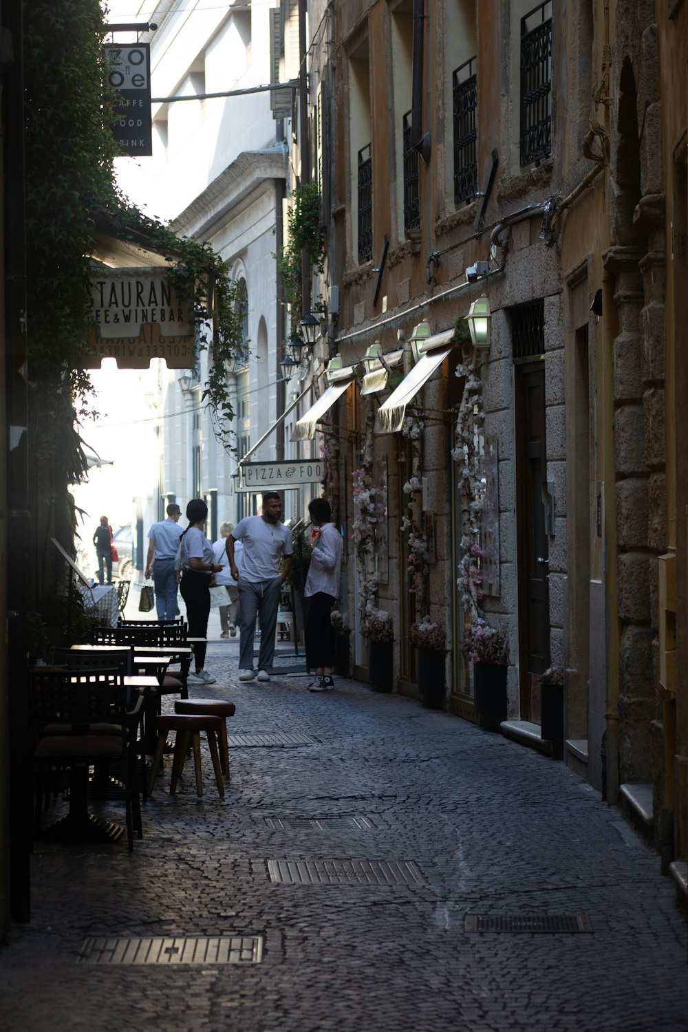
M85 939L77 964L260 964L260 935Z

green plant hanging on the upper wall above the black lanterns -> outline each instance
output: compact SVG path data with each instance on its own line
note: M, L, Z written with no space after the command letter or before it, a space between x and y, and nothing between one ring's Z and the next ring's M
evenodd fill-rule
M324 244L320 229L320 194L315 183L304 183L292 194L287 215L288 240L280 256L280 276L285 298L292 309L292 324L305 313L301 302L301 252L306 251L312 265L323 271Z

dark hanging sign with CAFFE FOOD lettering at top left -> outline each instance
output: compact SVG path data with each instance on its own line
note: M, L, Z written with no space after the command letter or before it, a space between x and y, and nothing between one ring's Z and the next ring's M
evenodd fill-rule
M104 43L107 85L120 99L112 135L120 154L150 158L153 154L151 122L151 52L148 43Z

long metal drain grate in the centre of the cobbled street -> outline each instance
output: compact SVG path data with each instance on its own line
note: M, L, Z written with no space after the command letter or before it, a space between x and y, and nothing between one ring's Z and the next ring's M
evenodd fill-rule
M268 860L270 881L285 885L408 885L425 878L413 861Z

